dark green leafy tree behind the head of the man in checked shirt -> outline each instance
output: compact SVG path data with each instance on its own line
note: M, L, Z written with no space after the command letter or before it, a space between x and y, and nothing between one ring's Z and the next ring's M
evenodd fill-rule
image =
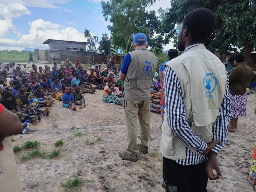
M216 14L216 27L205 43L207 49L219 53L245 52L248 65L251 52L256 47L256 4L253 0L171 0L171 8L163 16L162 35L165 42L170 41L175 26L179 25L189 11L206 7ZM162 10L163 11L163 10Z

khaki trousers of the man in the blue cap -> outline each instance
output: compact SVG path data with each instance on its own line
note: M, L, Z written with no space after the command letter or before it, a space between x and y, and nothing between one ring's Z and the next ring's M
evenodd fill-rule
M127 129L127 153L136 155L137 146L137 119L139 119L142 146L148 146L150 136L150 99L143 101L124 101L124 112Z

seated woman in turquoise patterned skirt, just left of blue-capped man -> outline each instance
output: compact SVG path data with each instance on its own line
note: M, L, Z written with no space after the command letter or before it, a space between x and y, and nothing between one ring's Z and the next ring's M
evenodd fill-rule
M120 104L121 99L118 96L116 96L114 92L115 92L114 83L112 80L110 80L103 90L103 102Z

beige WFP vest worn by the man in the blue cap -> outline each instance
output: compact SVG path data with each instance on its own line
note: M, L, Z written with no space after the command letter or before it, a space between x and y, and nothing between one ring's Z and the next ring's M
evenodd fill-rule
M150 85L156 72L158 58L146 47L129 54L131 62L124 80L124 99L128 101L150 99Z

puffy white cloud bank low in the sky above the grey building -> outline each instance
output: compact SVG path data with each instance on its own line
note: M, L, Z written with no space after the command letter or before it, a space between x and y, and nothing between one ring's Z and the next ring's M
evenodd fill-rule
M0 45L6 47L47 47L47 44L43 44L47 39L86 42L83 33L77 31L77 29L63 27L50 21L43 21L43 19L29 22L29 26L30 29L28 34L21 35L18 40L0 38Z

